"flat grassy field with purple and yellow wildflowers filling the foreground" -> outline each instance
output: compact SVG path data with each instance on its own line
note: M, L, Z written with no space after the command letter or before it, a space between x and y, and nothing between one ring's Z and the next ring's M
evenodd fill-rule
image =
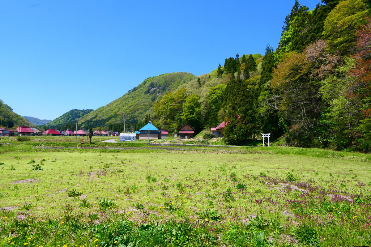
M0 246L371 244L367 154L58 141L1 139Z

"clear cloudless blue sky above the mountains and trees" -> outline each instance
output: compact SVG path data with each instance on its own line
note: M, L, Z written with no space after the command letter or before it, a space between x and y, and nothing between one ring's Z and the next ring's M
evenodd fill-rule
M209 73L236 52L276 48L293 3L1 0L0 99L55 119L106 105L150 76Z

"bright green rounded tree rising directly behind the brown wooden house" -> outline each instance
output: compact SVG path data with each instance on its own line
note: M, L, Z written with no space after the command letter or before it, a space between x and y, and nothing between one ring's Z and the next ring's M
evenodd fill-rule
M182 121L191 125L196 131L201 130L201 104L200 97L196 93L191 94L185 99Z

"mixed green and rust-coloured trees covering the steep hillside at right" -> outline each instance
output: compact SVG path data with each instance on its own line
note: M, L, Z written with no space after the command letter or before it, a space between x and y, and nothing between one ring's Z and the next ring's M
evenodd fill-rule
M367 0L298 1L276 50L263 58L229 57L224 67L164 95L153 120L174 131L226 121L224 140L244 144L260 133L283 145L370 150L371 16Z

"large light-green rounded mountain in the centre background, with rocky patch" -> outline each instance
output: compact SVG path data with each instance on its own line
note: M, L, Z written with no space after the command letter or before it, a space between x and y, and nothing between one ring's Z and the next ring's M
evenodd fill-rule
M126 119L144 117L154 107L155 100L161 98L164 93L187 84L193 77L191 73L176 72L147 78L120 98L80 118L81 125L88 126L92 122L94 125L105 125L123 121L124 117Z

